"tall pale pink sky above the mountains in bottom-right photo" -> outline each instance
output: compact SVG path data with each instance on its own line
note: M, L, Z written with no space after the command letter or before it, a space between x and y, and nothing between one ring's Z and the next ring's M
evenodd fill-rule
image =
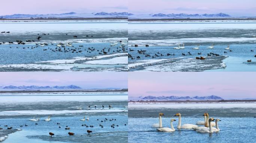
M256 98L255 72L129 72L129 96Z

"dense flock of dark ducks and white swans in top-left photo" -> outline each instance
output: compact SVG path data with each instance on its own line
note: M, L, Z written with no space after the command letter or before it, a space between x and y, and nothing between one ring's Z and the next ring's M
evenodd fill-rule
M39 35L39 34L37 34ZM46 35L45 33L43 33L42 35ZM47 34L49 35L49 34ZM65 34L65 35L68 35L68 34ZM86 35L86 37L88 37L89 35ZM92 36L91 36L92 37ZM38 36L36 39L38 41L40 41L40 39L42 38L42 36ZM73 36L73 38L77 38L76 35ZM11 42L11 41L8 41L8 42L2 42L0 43L1 44L5 44L5 43L9 43L9 44L18 44L18 45L25 45L29 42L35 42L33 39L32 40L26 40L25 42L24 41L21 41L21 40L16 40L15 42ZM118 45L119 46L116 46ZM55 48L44 48L43 51L47 51L47 50L51 50L52 52L71 52L71 53L82 53L83 51L86 51L87 53L92 53L92 52L97 52L98 54L107 54L110 52L113 52L113 53L118 53L118 52L126 52L127 51L127 48L125 48L125 46L127 45L126 42L123 42L121 40L118 40L116 42L110 42L110 47L115 47L115 49L113 48L106 48L104 47L102 50L95 50L95 48L93 47L88 47L88 48L81 48L83 47L83 45L79 45L78 47L74 47L74 45L72 45L71 42L67 42L67 43L58 43L58 44L53 44L53 43L36 43L36 46L30 46L30 47L23 47L23 49L26 49L26 48L31 48L31 49L34 49L34 48L38 48L39 46L43 47L43 46L48 46L48 45L56 45ZM72 48L69 48L69 47L72 47ZM12 48L12 47L10 47ZM16 47L16 48L19 48L19 47Z

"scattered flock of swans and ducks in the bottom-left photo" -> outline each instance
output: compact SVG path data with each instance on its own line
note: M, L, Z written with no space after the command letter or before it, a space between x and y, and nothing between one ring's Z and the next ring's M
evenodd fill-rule
M90 105L88 106L88 109L90 109ZM96 109L96 105L94 105L94 107L95 107L95 109ZM104 105L102 105L102 107L103 107L103 109L104 109ZM110 108L113 108L111 105L109 105L109 109ZM94 127L94 125L89 125L89 116L86 118L85 116L83 117L83 119L80 119L80 121L87 121L87 123L86 124L82 124L82 126L83 127L86 127L86 128L93 128ZM39 121L40 121L40 118L36 118L36 117L33 117L32 119L30 119L29 121L36 121L36 123L35 123L35 125L38 125L39 124ZM51 116L48 116L48 118L46 118L46 119L44 119L44 121L52 121L51 120ZM111 128L115 128L115 127L119 127L119 125L118 124L114 124L115 123L115 121L116 121L116 119L114 119L114 118L111 118L111 119L107 119L107 118L104 118L104 119L97 119L96 121L98 121L98 125L101 127L101 128L103 128L104 127L104 123L106 123L107 121L109 121L109 122L112 122L113 124L111 124L110 125L110 127ZM127 124L124 124L124 125L127 125ZM0 125L1 126L1 125ZM27 127L28 125L27 124L25 124L25 127ZM61 128L61 123L58 123L57 122L57 126L58 126L58 128ZM4 125L4 127L7 127L7 129L12 129L13 127L8 127L8 125ZM19 127L23 127L23 125L20 125ZM0 128L0 130L2 130L3 128ZM70 127L68 126L68 125L65 125L65 127L64 127L64 129L65 130L70 130ZM90 134L90 133L92 133L92 131L91 130L87 130L87 133L88 134ZM68 134L69 135L74 135L74 133L72 133L72 132L68 132ZM49 135L52 137L52 136L54 136L55 134L53 133L53 132L49 132Z

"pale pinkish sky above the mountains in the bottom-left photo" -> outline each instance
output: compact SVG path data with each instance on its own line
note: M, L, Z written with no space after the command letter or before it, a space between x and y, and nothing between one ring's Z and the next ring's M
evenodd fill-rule
M126 72L1 72L0 86L67 86L127 88Z

